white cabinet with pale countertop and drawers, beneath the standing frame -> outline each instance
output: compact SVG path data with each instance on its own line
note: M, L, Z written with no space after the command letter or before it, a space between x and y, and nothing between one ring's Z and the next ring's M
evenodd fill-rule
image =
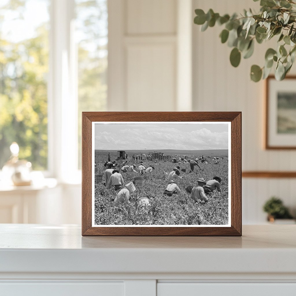
M81 237L0 224L0 296L295 296L295 225L242 237Z

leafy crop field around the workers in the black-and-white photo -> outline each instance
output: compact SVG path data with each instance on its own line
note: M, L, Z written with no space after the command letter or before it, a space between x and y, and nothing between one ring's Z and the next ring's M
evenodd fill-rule
M136 165L138 170L139 160L133 161L132 155L147 151L128 151L128 165ZM103 174L106 167L104 163L108 158L107 151L95 151L95 175ZM177 160L179 157L189 155L186 152L175 151L173 157ZM94 197L94 218L95 225L226 225L228 224L228 152L227 150L203 150L194 151L190 156L195 159L205 155L209 157L207 164L201 163L202 170L197 166L190 173L189 163L182 163L182 168L186 172L181 172L180 176L184 176L176 183L181 189L181 194L173 194L169 197L163 194L164 189L168 185L168 176L164 172L170 173L173 167L178 163L172 163L165 160L146 160L143 157L144 166L147 168L153 165L155 170L150 173L144 173L144 182L142 185L135 185L136 191L131 193L130 202L123 203L120 207L114 207L113 201L118 191L107 189L103 181L94 181L95 197ZM214 164L213 157L219 157L219 164ZM221 159L223 157L223 159ZM124 160L117 160L115 152L111 153L111 161L116 160L117 164L123 163ZM120 170L120 167L118 167ZM123 176L124 184L134 180L135 177L141 176L140 173L120 172ZM211 192L207 194L208 201L199 201L195 203L190 198L190 193L186 192L185 188L189 185L197 185L199 178L204 178L206 181L211 180L213 176L221 177L220 187L222 192ZM137 209L136 202L140 197L149 198L150 205L139 207Z

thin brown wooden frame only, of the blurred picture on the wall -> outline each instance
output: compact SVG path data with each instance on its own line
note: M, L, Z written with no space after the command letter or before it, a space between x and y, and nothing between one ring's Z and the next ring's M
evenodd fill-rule
M269 81L271 79L275 79L274 75L270 75L266 78L265 81L265 135L264 135L264 139L265 139L265 149L266 150L291 150L291 149L296 149L296 146L271 146L269 144L269 140L268 140L268 126L269 126L269 115L268 115L268 108L269 108ZM296 79L296 75L289 75L285 77L285 80L287 79Z

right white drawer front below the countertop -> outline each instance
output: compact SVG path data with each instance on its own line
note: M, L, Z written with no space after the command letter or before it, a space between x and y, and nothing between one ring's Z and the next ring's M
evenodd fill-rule
M296 283L158 283L157 296L295 296Z

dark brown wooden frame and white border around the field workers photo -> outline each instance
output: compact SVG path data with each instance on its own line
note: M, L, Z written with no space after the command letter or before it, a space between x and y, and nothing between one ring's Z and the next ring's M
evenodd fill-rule
M230 215L227 225L194 226L114 226L94 225L92 189L94 185L95 146L94 124L96 123L218 123L228 124L231 138L229 165L231 168ZM100 127L100 126L99 126ZM83 236L241 236L242 235L242 114L241 112L82 112L82 235ZM228 133L229 135L229 133ZM229 144L228 144L229 145ZM221 160L222 161L222 160ZM227 160L228 161L228 160ZM230 171L229 171L230 172ZM190 175L191 176L191 175ZM228 188L228 187L227 187ZM111 190L111 189L110 189ZM195 227L196 226L196 227Z

